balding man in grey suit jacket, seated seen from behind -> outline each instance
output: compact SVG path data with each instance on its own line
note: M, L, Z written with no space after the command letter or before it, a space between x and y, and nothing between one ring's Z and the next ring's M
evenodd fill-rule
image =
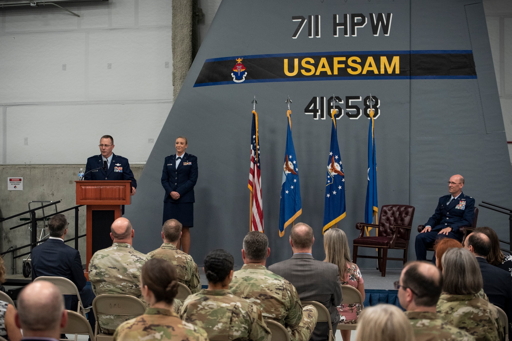
M301 301L322 303L331 315L332 330L339 322L337 306L342 303L342 287L338 267L332 263L316 260L311 254L315 241L313 229L304 223L297 223L290 231L290 245L293 256L272 264L268 270L290 281L297 289ZM327 323L317 322L310 340L321 341L329 337Z

